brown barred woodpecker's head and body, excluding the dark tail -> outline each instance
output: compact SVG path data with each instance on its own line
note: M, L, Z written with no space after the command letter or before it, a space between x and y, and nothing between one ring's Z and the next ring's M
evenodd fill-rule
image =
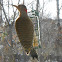
M19 11L19 17L15 21L15 29L19 41L26 52L29 54L32 49L34 38L34 24L27 14L27 8L24 4L13 5Z

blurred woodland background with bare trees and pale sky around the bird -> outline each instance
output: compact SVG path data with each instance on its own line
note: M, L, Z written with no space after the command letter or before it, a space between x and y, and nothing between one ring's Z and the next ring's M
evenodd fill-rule
M24 4L34 23L36 62L62 62L62 0L0 0L0 62L33 62L19 43L12 5Z

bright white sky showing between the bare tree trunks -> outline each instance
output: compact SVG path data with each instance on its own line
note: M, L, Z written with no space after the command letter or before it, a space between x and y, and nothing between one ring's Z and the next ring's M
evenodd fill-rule
M8 0L3 0L3 1L6 1L4 2L4 5L7 4ZM13 4L14 5L17 5L18 4L18 0L9 0L10 3L13 1ZM33 4L33 9L36 9L36 1L37 0L25 0L25 5L27 6L27 9L28 11L31 11L31 8L32 8L32 4L30 4L32 1L34 1L32 4ZM42 5L43 5L43 0L39 0L40 2L40 8L42 8ZM48 14L50 14L50 18L56 18L56 14L57 14L57 9L56 9L56 0L44 0L46 3L44 5L44 16L47 16ZM50 1L50 2L48 2ZM22 4L23 3L23 0L20 0L19 4ZM62 0L60 0L60 7L61 7L61 4L62 4ZM30 4L30 5L28 5ZM8 12L8 8L7 8L7 5L5 6L6 8L6 12ZM12 6L10 5L10 10L9 10L9 15L11 16L13 13L13 9ZM14 8L16 9L16 8ZM42 12L42 11L40 11ZM62 18L62 9L60 10L60 18Z

